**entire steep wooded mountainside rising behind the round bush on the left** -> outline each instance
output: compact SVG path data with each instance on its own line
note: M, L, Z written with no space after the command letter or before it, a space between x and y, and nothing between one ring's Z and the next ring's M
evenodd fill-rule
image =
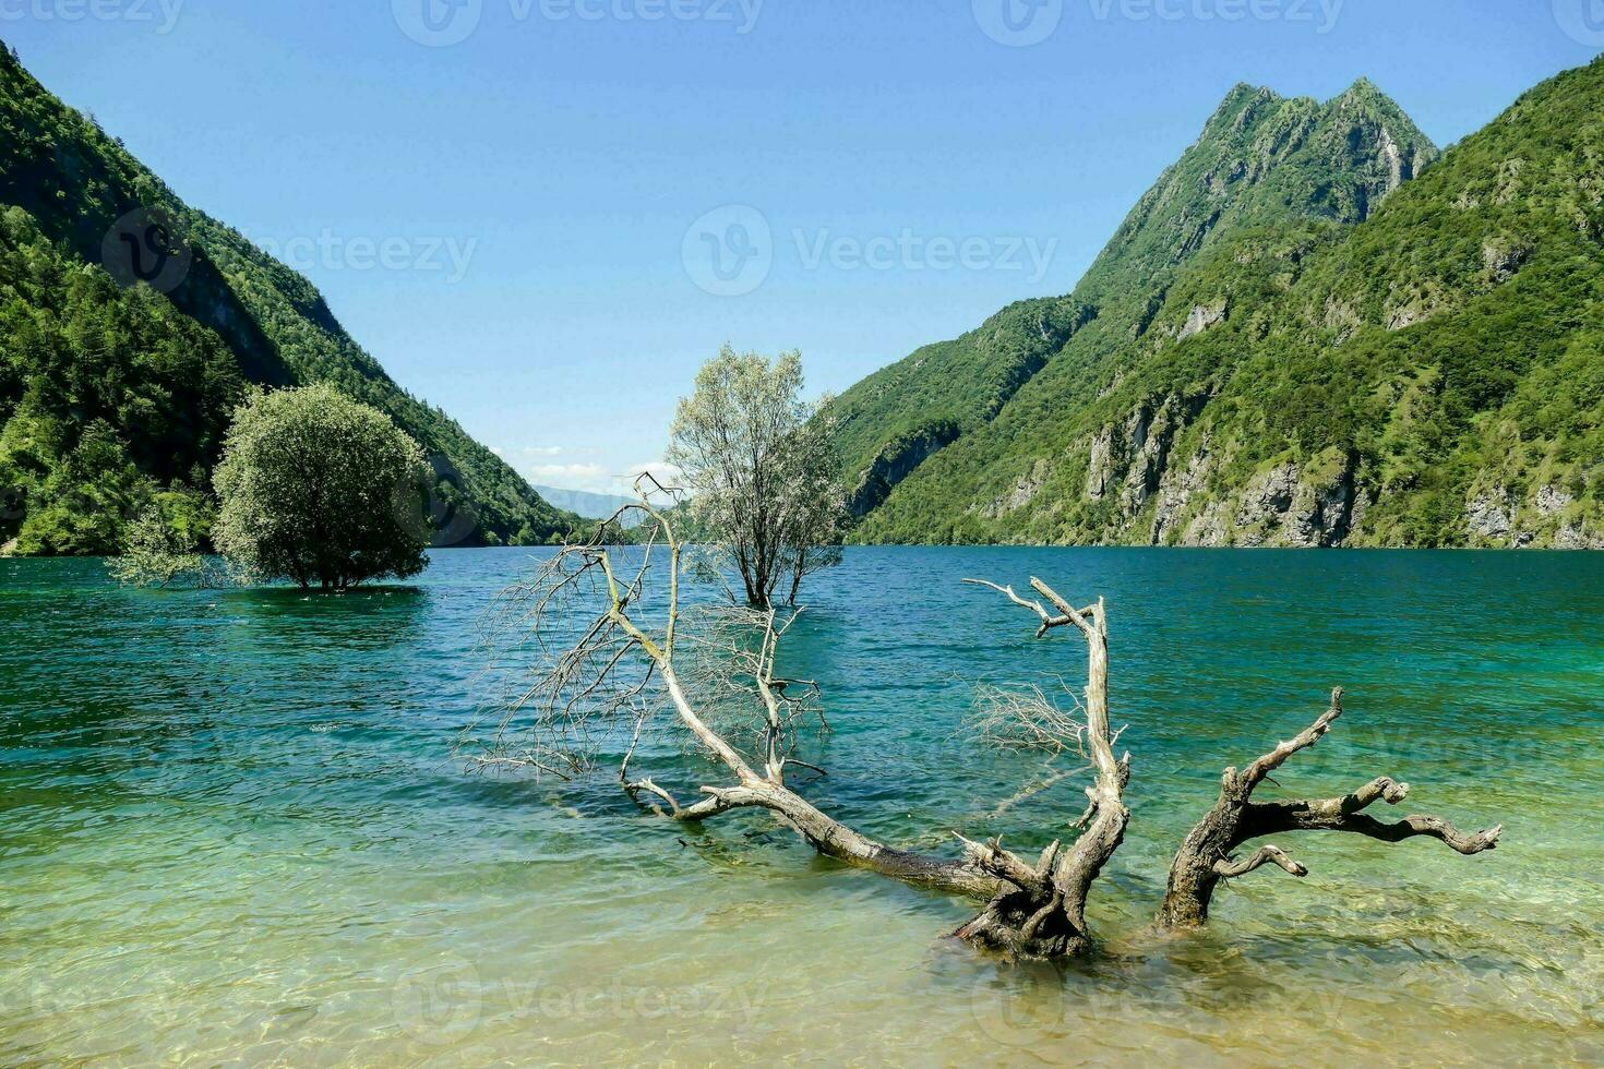
M242 383L329 381L388 412L433 462L438 511L459 516L449 524L452 542L544 542L569 529L571 516L444 412L401 389L305 277L183 204L0 48L0 208L6 205L0 478L8 503L0 543L112 550L125 510L93 500L93 487L127 476L96 466L119 455L149 481L130 484L135 497L152 486L207 487L220 420L226 425ZM117 247L117 221L140 210L170 232L183 269L152 282L154 290L119 293L104 269L106 248ZM197 367L205 381L191 378ZM162 452L168 447L170 455Z

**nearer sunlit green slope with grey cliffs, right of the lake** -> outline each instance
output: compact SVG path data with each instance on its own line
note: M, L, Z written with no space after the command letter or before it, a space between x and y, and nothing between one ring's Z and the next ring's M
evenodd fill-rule
M1601 266L1604 61L1357 226L1221 237L1139 337L1071 341L858 534L1604 545Z

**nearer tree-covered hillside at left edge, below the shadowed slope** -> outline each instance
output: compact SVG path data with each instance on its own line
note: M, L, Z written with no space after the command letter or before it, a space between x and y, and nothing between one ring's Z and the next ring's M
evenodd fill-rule
M0 542L104 553L157 495L199 521L244 391L217 333L0 212Z

